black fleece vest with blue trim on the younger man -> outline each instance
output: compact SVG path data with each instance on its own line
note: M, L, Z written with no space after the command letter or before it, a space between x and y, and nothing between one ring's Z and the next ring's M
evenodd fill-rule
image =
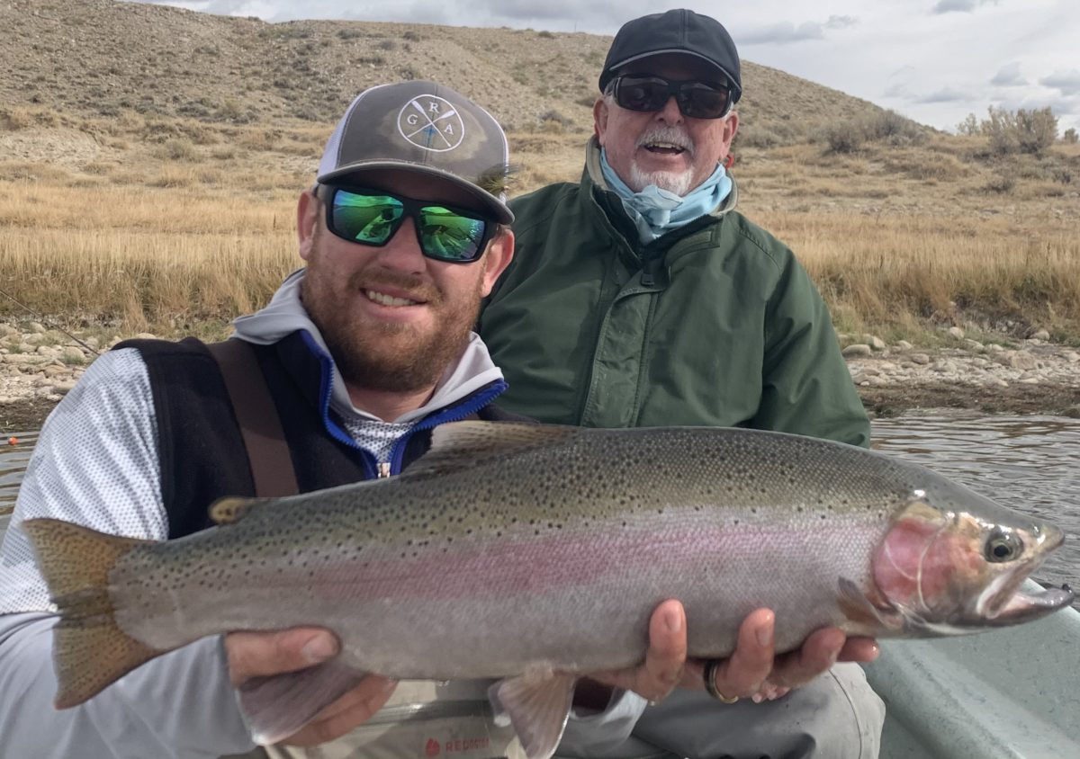
M127 340L117 348L138 349L149 372L168 537L213 526L208 509L214 501L255 494L247 450L217 362L194 338ZM281 418L299 491L376 477L375 457L353 442L329 407L332 363L310 335L297 331L254 349ZM488 383L417 422L395 446L391 473L427 452L431 430L438 424L526 420L491 406L505 387L502 380Z

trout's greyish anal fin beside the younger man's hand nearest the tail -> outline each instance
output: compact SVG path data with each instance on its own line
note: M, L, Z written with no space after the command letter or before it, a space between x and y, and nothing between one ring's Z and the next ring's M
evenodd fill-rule
M269 746L314 719L355 688L365 674L332 659L307 669L253 677L238 688L240 707L255 742Z

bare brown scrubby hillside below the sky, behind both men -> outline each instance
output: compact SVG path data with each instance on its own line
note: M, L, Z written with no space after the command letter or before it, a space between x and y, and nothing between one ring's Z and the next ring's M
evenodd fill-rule
M268 24L112 0L0 3L0 103L84 117L190 117L211 123L336 119L362 90L430 79L490 110L508 131L555 121L591 131L611 39L531 29L416 24ZM752 130L802 136L826 119L877 110L789 74L745 64Z

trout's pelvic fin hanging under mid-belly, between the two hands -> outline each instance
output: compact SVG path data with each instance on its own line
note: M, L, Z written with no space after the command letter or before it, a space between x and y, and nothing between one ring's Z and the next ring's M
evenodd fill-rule
M513 726L529 759L549 759L563 737L577 681L575 675L555 673L496 682L487 692L496 723Z

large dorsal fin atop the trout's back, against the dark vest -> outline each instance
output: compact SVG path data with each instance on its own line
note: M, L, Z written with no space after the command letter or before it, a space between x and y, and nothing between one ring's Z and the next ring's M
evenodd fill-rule
M403 477L446 474L511 452L551 445L580 434L581 428L519 422L448 422L431 431L431 449Z

